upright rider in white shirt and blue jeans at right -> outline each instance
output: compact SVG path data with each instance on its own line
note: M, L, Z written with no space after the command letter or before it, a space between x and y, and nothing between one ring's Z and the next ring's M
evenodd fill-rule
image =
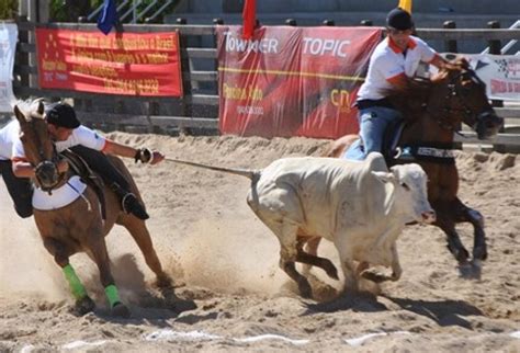
M381 42L370 58L366 79L358 92L360 136L363 150L352 146L348 159L364 159L372 151L382 151L383 135L400 113L385 96L395 87L406 87L419 67L419 62L441 68L445 61L423 41L411 35L411 15L397 8L386 16L387 37Z

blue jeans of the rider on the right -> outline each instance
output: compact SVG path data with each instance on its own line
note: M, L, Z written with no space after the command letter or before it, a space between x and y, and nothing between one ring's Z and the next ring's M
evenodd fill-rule
M358 121L364 148L361 150L360 143L357 141L350 146L343 158L363 160L370 152L381 152L386 127L391 122L400 117L398 111L386 106L371 106L360 110Z

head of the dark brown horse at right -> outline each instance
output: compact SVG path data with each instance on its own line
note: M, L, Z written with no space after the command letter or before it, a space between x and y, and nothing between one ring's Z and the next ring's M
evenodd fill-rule
M495 136L504 125L486 95L486 84L471 69L467 60L459 58L443 68L432 79L439 102L436 106L443 109L444 116L440 123L451 126L463 122L472 127L478 139ZM455 121L453 116L460 116ZM449 121L448 121L449 119Z

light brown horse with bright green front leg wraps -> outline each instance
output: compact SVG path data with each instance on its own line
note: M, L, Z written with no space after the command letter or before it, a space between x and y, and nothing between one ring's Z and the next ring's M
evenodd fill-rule
M56 162L59 156L47 133L47 123L43 118L43 103L39 101L26 105L26 109L15 105L14 114L20 122L21 140L27 161L35 168L35 194L41 193L39 195L47 197L46 202L53 203L55 200L53 197L59 197L59 194L76 193L69 203L58 205L54 209L42 210L45 207L39 207L41 209L35 207L34 220L44 246L63 269L76 297L76 309L79 314L93 310L95 305L76 275L69 258L77 252L86 252L98 265L112 315L127 317L129 310L118 297L104 237L114 224L125 227L137 242L146 263L156 274L157 285L168 286L170 277L162 271L145 221L122 212L116 195L106 186L103 190L106 210L103 221L100 201L94 189L89 184L78 183L79 178L74 175L71 169L65 174L57 172ZM137 186L122 160L113 156L109 158L131 182L132 192L140 198Z

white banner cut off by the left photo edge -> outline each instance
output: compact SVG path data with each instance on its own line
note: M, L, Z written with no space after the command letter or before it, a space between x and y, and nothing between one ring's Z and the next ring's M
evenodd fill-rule
M16 24L0 22L0 112L12 113L16 100L12 84L16 42Z

